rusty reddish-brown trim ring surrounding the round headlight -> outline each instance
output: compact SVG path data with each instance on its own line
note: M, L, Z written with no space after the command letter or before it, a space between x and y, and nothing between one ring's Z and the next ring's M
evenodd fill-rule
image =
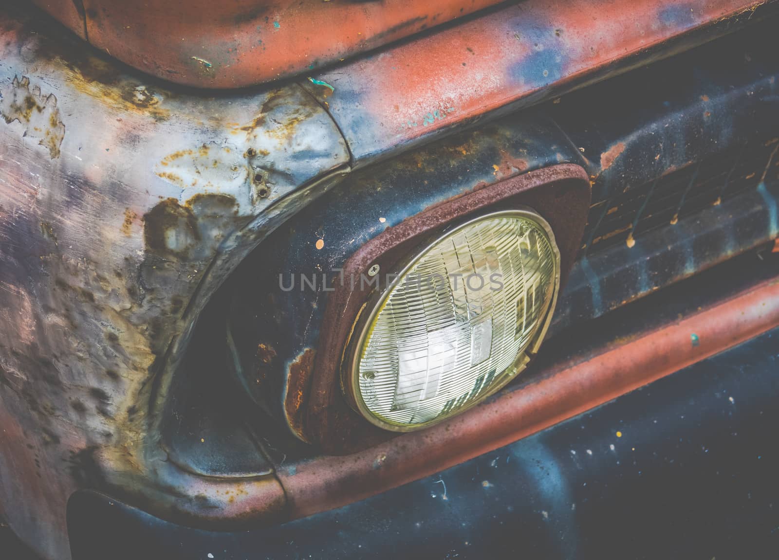
M560 252L560 289L576 254L590 206L590 178L576 164L557 164L516 174L493 185L464 192L428 206L370 239L344 262L344 278L359 277L373 264L397 268L409 253L446 227L492 210L527 206L548 222ZM325 453L344 454L365 449L397 435L366 421L348 403L341 389L341 365L355 318L367 307L372 293L351 291L337 282L326 301L323 329L315 362L303 394L287 393L284 409L294 433ZM299 421L293 421L295 414Z

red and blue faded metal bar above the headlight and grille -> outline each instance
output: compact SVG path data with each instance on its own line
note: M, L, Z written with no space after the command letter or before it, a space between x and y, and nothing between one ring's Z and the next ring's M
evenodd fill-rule
M527 0L315 75L330 87L301 84L326 102L365 164L490 111L710 41L764 3Z

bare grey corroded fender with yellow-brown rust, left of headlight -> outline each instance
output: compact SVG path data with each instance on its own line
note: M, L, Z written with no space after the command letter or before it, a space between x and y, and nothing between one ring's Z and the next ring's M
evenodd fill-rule
M272 476L193 477L154 438L200 309L280 220L344 172L344 140L294 84L219 97L166 90L9 10L0 23L5 518L63 558L65 500L83 486L184 515L277 511Z

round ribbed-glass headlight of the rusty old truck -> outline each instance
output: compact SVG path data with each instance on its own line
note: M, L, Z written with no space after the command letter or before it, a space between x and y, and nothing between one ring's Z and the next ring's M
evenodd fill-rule
M411 431L495 393L538 350L559 270L555 236L530 210L446 232L358 323L344 378L352 403L381 428Z

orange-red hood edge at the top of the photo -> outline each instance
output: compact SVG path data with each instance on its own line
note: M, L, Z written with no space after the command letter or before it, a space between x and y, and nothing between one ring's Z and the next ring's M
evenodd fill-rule
M500 0L34 0L101 50L196 87L249 86L370 51Z

